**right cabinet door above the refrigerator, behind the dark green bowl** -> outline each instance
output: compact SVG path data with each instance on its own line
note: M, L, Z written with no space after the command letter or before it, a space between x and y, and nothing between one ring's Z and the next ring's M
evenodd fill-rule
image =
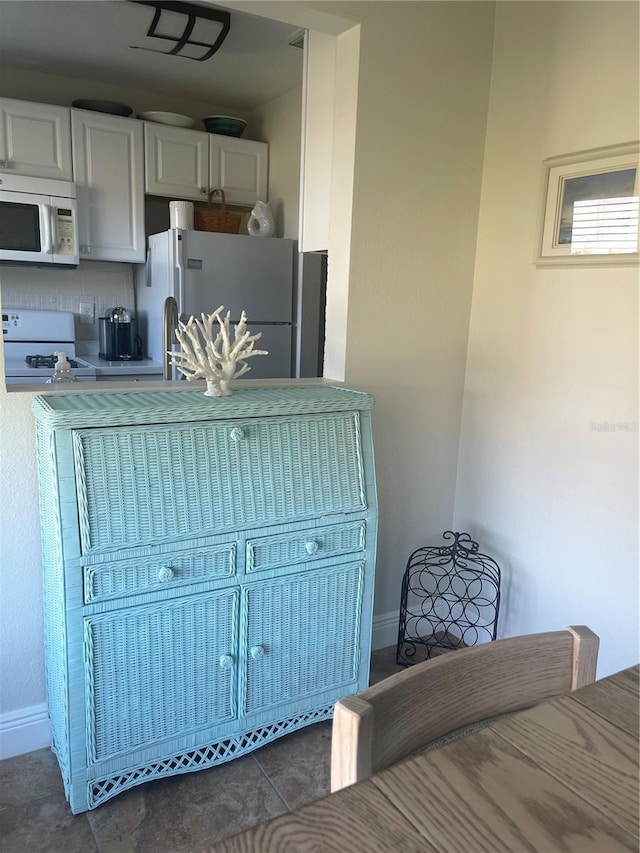
M210 134L209 186L223 189L230 204L268 201L268 171L266 142Z

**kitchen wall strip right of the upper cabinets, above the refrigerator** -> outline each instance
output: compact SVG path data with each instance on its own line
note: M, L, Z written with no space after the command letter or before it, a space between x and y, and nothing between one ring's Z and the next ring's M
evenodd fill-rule
M297 240L302 88L263 104L250 114L249 121L254 138L269 142L269 203L276 221L275 236Z

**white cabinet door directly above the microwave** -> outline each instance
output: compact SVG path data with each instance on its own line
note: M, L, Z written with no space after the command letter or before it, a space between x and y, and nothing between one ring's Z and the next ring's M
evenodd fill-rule
M68 107L0 98L0 171L73 180Z

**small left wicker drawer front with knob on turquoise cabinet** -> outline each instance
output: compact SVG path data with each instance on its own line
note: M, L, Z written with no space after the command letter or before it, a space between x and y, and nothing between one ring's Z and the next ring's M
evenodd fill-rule
M235 570L236 546L233 542L107 565L85 566L84 600L89 604L137 592L169 591L183 584L229 577Z

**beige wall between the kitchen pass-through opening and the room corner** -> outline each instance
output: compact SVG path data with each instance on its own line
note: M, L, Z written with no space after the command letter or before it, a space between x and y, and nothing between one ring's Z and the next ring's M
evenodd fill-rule
M361 22L345 379L377 400L379 615L453 515L494 9L332 7Z

